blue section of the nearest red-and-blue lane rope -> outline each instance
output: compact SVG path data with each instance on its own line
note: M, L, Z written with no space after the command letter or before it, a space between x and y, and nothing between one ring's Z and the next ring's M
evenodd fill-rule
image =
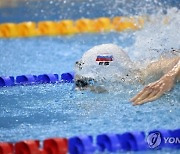
M178 138L180 141L180 129L177 130L153 130L148 135L158 132L161 134L161 144L158 149L171 148L180 149L179 143L165 143L164 137ZM101 134L96 137L96 144L92 136L72 137L69 139L68 147L70 154L84 154L98 152L119 152L119 151L146 151L154 150L149 148L146 141L148 136L144 132L126 132L123 134ZM155 148L157 149L157 148Z

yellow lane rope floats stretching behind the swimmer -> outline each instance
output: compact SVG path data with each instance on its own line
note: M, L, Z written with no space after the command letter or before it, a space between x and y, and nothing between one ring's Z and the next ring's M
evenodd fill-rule
M101 17L62 21L40 21L0 24L1 38L74 35L108 31L138 30L143 28L143 17Z

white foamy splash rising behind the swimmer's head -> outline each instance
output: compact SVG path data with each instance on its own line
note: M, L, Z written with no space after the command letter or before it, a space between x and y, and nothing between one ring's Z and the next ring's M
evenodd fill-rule
M144 29L134 33L135 43L126 49L132 59L148 63L172 49L180 49L180 10L168 9L166 15L158 12L148 21Z

